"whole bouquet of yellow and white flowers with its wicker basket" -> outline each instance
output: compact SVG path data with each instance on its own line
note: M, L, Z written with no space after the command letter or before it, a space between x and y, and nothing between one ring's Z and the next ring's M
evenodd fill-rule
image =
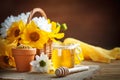
M33 17L37 12L42 17ZM64 33L60 31L66 29L66 24L48 19L41 8L8 17L0 27L0 68L15 67L11 50L21 44L36 48L38 53L50 58L52 42L63 38Z

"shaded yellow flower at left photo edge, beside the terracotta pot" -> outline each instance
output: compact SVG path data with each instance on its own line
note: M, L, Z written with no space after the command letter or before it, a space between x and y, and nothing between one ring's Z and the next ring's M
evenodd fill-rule
M6 40L0 38L0 59L3 58L0 60L0 68L6 68L8 66L15 67L11 49L16 46L17 43L8 44Z

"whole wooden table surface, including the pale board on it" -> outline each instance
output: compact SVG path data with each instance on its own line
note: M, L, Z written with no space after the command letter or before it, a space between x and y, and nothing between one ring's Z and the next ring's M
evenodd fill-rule
M55 74L18 73L13 69L0 71L0 80L120 80L120 60L109 64L83 61L82 64L90 66L90 69L62 78L57 78Z

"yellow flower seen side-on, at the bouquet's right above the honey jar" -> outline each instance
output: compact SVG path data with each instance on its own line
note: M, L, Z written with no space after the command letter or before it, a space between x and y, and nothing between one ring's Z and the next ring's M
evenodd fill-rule
M56 22L52 22L52 32L50 33L49 37L54 40L54 38L61 39L64 37L64 33L59 33L60 26L57 26Z

